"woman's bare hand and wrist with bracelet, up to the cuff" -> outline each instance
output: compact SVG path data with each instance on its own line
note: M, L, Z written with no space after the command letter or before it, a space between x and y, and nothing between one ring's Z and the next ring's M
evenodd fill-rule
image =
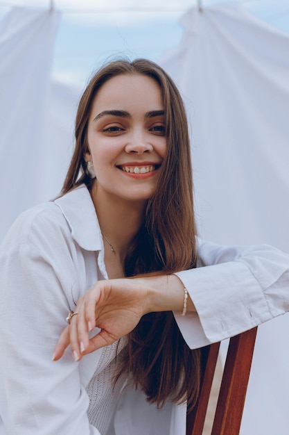
M55 346L54 360L60 359L71 345L76 361L82 355L110 345L137 326L141 317L154 311L178 311L184 308L184 286L175 275L110 279L98 281L78 299L69 328L64 329ZM194 311L188 297L187 311ZM89 331L98 328L89 338Z

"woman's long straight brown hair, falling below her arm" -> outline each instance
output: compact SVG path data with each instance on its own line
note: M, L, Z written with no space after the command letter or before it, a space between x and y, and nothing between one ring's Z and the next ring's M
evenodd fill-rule
M100 87L120 74L144 74L155 79L164 99L167 153L155 193L148 202L146 220L125 258L127 276L154 272L171 274L195 267L195 219L189 132L182 97L159 65L146 59L114 60L101 68L83 93L76 115L76 148L62 194L91 179L85 173L87 124ZM193 407L200 386L200 352L190 350L173 313L149 313L128 336L128 352L121 372L161 407L166 400L188 401Z

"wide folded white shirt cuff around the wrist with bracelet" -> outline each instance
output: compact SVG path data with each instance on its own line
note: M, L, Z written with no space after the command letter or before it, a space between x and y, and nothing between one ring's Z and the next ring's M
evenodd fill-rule
M261 286L245 263L221 263L176 275L197 311L184 317L174 313L191 349L235 336L272 318Z

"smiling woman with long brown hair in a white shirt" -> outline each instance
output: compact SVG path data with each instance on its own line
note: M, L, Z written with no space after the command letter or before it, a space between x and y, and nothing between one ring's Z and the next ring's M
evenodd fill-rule
M91 79L62 196L0 264L3 434L184 434L198 348L289 309L286 254L196 238L184 106L148 60Z

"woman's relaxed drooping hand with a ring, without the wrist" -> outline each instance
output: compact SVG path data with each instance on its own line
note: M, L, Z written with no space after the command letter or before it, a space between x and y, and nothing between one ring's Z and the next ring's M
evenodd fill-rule
M53 360L61 358L71 345L74 359L110 345L137 326L148 312L148 290L141 279L111 279L98 281L85 293L76 306L71 324L67 326L55 346ZM89 339L89 331L100 332Z

